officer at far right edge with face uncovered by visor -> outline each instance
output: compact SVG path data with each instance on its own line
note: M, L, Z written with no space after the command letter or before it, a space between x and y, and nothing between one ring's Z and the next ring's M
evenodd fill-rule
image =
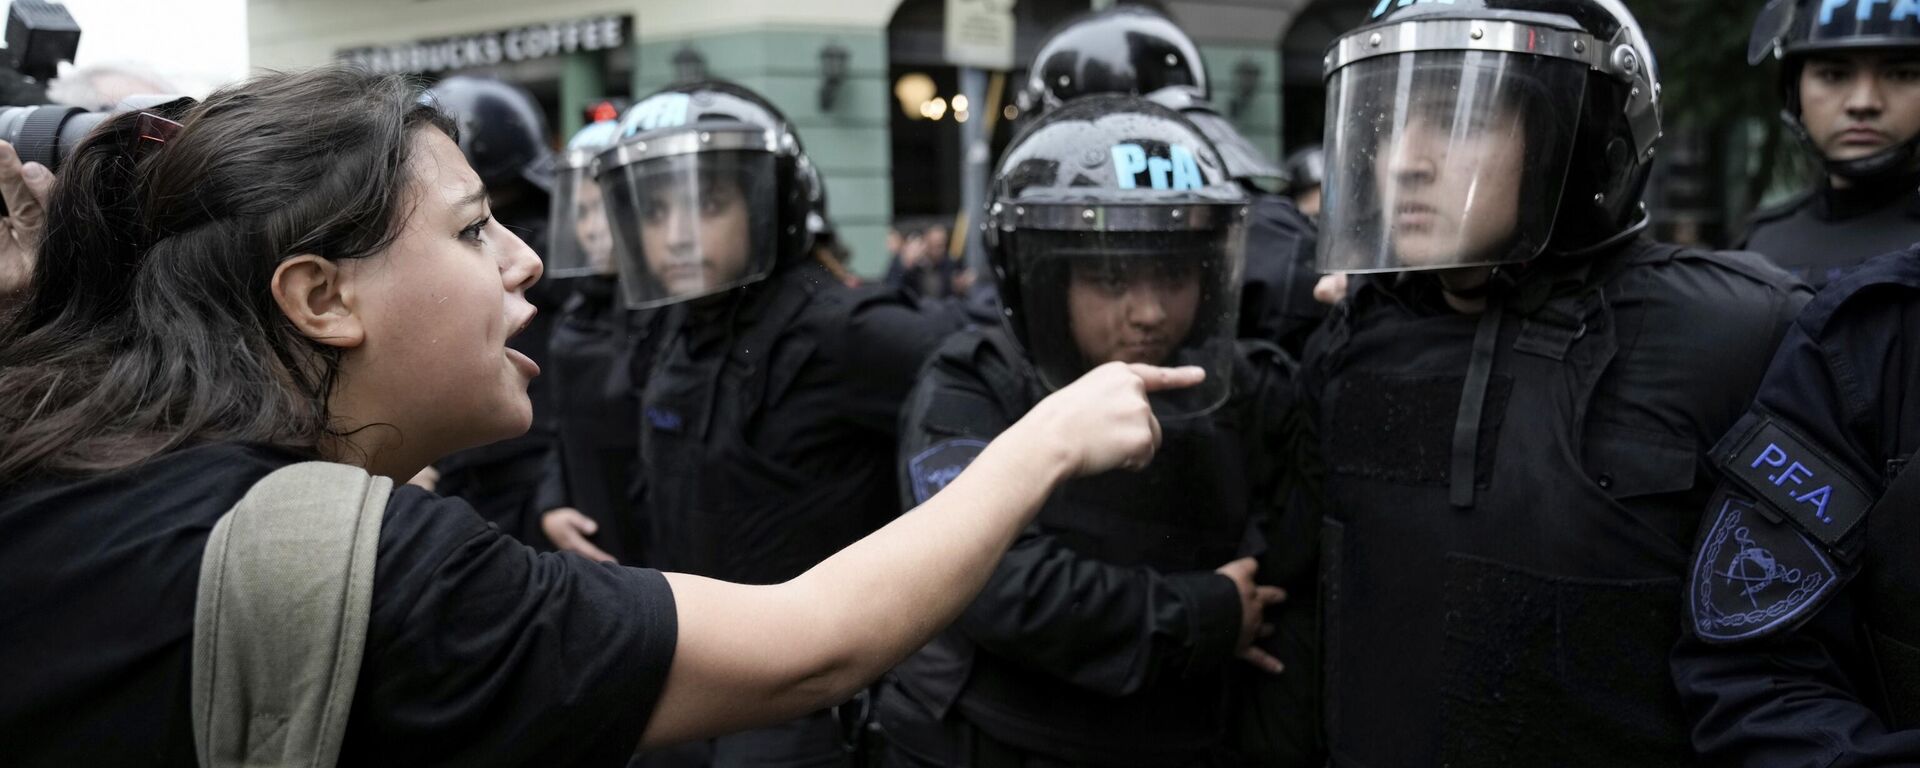
M1780 117L1822 173L1807 194L1757 213L1741 248L1818 288L1920 240L1920 12L1770 0L1751 40L1751 63L1780 60Z

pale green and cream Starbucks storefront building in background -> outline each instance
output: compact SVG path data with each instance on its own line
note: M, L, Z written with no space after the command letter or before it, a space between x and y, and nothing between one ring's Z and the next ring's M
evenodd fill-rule
M248 35L255 67L303 67L372 50L386 52L392 69L428 79L480 73L520 83L547 108L557 140L607 96L643 96L697 75L737 81L772 98L797 125L828 180L852 267L872 276L885 269L889 225L958 209L958 194L950 194L960 184L954 113L927 121L895 94L902 73L954 79L939 50L948 2L1014 0L250 0ZM1014 2L1016 60L1023 65L1054 23L1094 2L1106 4ZM1231 106L1242 132L1275 156L1286 134L1281 40L1306 2L1154 4L1202 44L1221 109ZM586 36L582 25L591 27ZM516 56L503 56L501 42ZM1018 86L1020 73L1008 75L998 104ZM1302 81L1306 73L1292 75ZM939 90L943 102L952 98L954 88ZM895 140L908 131L912 140ZM1004 142L1004 131L995 136ZM914 184L931 186L897 190ZM935 204L922 202L916 211L910 198Z

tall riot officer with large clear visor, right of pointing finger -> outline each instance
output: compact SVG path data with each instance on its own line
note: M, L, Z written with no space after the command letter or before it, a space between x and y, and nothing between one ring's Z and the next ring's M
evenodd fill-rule
M1329 50L1308 344L1334 764L1663 766L1701 455L1805 288L1649 242L1653 58L1613 0L1379 4Z

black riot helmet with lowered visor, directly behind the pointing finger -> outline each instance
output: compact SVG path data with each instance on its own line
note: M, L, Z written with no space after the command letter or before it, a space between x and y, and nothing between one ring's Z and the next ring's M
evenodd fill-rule
M1164 417L1227 399L1246 190L1181 113L1087 96L1021 129L993 179L987 257L1008 330L1041 382L1108 361L1200 365L1154 396Z

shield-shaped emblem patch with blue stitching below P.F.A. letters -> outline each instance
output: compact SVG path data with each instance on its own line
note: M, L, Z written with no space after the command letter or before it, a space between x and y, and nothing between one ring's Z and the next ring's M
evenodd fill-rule
M1715 499L1720 513L1701 534L1688 584L1693 632L1709 643L1738 643L1812 616L1841 582L1826 551L1793 524L1759 515L1749 499Z

